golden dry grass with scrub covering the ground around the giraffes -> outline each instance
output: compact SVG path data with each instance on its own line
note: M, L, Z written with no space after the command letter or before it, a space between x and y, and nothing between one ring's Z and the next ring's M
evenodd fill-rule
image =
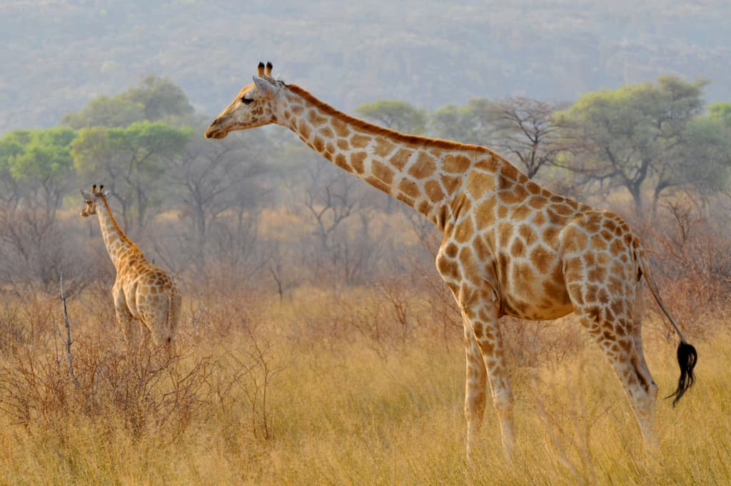
M695 340L697 386L675 409L659 403L647 454L618 380L571 318L507 322L518 458L503 459L488 408L470 469L461 332L433 321L444 310L423 289L300 289L281 304L199 296L170 358L127 350L95 292L69 299L80 386L54 332L57 297L0 309L1 484L731 482L724 323ZM667 394L675 343L648 321Z

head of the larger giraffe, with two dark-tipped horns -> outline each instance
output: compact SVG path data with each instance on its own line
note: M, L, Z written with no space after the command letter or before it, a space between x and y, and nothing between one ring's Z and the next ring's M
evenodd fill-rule
M276 99L284 86L272 78L272 64L259 63L254 83L244 86L230 104L213 120L205 138L224 138L233 130L261 127L276 121Z

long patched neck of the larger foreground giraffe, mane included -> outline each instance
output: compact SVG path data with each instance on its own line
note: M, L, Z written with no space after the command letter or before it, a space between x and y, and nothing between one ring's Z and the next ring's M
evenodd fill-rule
M456 195L469 169L486 157L499 159L485 147L404 135L363 122L296 85L286 85L282 96L287 102L276 113L277 124L295 132L325 159L412 206L442 229L456 212Z

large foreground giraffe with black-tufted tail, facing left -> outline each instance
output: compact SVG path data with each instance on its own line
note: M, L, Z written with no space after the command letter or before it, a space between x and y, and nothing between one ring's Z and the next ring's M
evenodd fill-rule
M604 351L646 444L658 386L645 363L644 277L680 338L673 406L694 384L695 348L660 298L640 239L617 214L556 195L484 146L378 127L271 75L253 83L205 131L224 138L265 124L287 127L325 159L403 201L444 233L436 268L463 320L466 452L480 432L489 381L507 459L514 454L513 395L498 319L551 320L575 313Z

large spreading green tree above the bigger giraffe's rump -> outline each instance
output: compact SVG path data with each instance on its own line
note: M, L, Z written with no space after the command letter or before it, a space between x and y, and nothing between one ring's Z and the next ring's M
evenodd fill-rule
M583 95L556 119L574 145L567 168L588 181L624 187L638 210L651 190L654 209L662 192L692 183L680 177L679 154L686 153L689 124L702 111L705 84L663 76L656 84Z

